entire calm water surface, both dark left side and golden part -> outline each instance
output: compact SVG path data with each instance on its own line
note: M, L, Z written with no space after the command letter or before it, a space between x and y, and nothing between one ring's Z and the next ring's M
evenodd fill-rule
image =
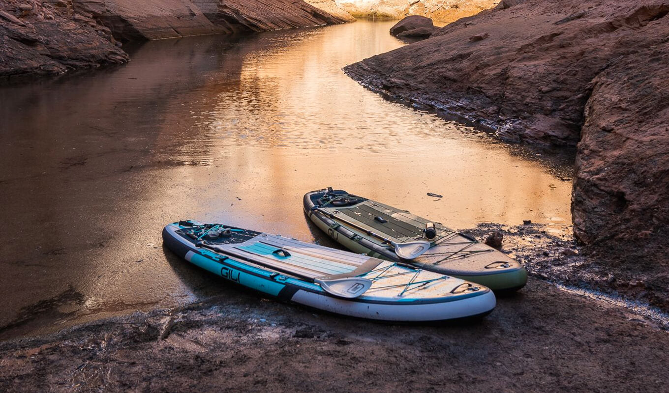
M334 186L456 228L569 223L571 170L384 100L341 68L403 45L358 21L147 43L126 66L0 88L0 338L235 290L163 251L179 219L332 245ZM438 201L426 192L443 194Z

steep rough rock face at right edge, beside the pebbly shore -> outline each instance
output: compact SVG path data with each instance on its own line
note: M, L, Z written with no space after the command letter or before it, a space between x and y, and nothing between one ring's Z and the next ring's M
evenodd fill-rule
M573 188L575 235L646 271L669 269L666 22L619 41L628 53L593 80Z

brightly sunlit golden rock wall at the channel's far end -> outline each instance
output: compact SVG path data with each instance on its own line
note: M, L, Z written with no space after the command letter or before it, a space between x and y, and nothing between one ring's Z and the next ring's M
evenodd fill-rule
M497 5L498 0L337 0L355 17L401 19L421 15L436 21L452 22Z

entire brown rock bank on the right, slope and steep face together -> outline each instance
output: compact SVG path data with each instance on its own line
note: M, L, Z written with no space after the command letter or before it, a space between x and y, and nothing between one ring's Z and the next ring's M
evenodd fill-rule
M669 283L669 3L505 0L345 72L504 139L578 144L577 238Z

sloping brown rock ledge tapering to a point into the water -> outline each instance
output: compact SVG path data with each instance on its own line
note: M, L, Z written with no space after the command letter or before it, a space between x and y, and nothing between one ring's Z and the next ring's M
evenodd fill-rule
M491 126L506 140L575 145L591 81L630 51L620 40L634 40L662 14L639 11L660 7L647 3L498 7L346 71L370 88Z

